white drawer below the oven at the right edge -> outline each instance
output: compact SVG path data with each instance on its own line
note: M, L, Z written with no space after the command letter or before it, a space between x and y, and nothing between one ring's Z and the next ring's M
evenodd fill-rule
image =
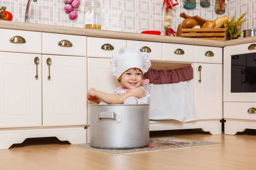
M248 109L256 108L256 103L224 102L224 119L256 120L256 113L248 113Z

